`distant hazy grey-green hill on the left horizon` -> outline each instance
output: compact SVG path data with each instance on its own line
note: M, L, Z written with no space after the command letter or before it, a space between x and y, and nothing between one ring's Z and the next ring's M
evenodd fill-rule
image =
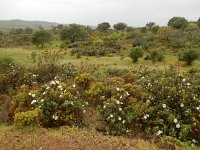
M33 28L38 29L43 27L49 29L52 26L57 26L58 23L47 21L24 21L24 20L0 20L0 29L12 29L12 28Z

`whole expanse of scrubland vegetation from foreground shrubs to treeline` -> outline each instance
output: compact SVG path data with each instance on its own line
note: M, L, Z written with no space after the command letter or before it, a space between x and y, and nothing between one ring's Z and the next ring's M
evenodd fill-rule
M94 149L198 149L199 24L173 17L165 27L120 22L111 29L103 22L96 29L70 24L0 32L0 130L22 139L29 136L24 132L40 138L44 132L42 138L56 142L65 134L106 140Z

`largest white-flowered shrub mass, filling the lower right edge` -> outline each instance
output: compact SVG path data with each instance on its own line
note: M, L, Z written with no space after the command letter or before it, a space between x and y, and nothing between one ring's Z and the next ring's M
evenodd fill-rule
M200 141L200 85L195 77L175 70L143 72L138 83L148 93L147 133L168 135L183 141Z

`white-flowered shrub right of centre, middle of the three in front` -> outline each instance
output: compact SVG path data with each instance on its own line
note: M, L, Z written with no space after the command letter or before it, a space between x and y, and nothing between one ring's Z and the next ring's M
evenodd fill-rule
M105 99L100 106L107 133L119 135L139 130L140 120L147 110L141 88L131 84L114 86L111 94L111 98Z

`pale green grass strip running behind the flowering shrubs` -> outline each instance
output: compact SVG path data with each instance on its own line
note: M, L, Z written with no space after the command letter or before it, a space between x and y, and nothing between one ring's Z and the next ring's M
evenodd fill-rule
M54 49L52 46L51 49ZM36 52L36 62L33 63L31 59L31 53ZM26 66L32 66L37 64L38 54L41 53L41 50L35 47L19 47L19 48L0 48L0 58L11 57L17 63ZM74 65L81 65L83 62L87 62L89 64L100 65L104 67L114 67L114 68L138 68L140 64L149 67L150 69L160 68L163 69L168 67L169 65L179 66L181 71L186 71L190 68L200 68L200 60L197 60L193 63L192 66L182 67L180 63L177 61L177 56L173 54L166 54L165 60L163 62L152 63L150 60L144 60L141 58L138 63L133 64L129 57L124 57L123 59L120 56L112 56L112 57L86 57L82 56L77 59L76 56L71 56L69 51L61 60L61 63L72 63Z

